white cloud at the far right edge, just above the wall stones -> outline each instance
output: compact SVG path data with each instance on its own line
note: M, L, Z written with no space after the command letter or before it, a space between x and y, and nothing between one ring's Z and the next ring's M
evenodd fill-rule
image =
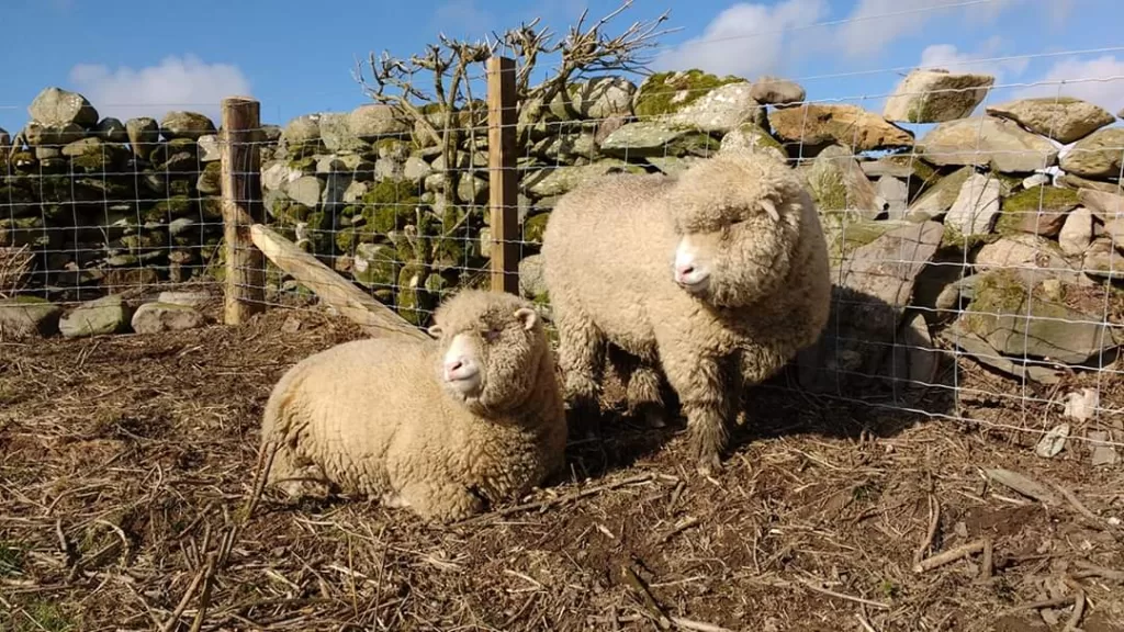
M1061 60L1044 75L1028 83L1015 91L1015 99L1060 94L1085 99L1113 114L1124 108L1124 60L1115 55Z

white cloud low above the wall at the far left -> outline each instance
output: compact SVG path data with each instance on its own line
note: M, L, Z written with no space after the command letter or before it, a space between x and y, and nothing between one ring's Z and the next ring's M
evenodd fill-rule
M158 120L169 110L192 110L211 117L218 126L224 98L250 96L250 81L238 66L208 64L190 54L167 56L139 70L78 64L71 69L70 80L98 114L121 120L136 116Z

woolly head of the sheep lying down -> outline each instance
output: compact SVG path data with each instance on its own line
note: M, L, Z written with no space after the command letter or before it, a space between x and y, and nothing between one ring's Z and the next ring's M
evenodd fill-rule
M483 410L507 408L526 399L537 377L545 340L533 309L492 298L491 304L462 301L459 312L438 312L437 318L446 318L429 327L429 334L439 341L437 371L442 386L455 399Z

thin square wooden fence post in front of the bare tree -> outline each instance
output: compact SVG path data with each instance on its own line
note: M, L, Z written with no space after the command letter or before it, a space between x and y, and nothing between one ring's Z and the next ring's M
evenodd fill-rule
M516 172L515 60L488 60L488 205L491 289L519 294L519 174Z

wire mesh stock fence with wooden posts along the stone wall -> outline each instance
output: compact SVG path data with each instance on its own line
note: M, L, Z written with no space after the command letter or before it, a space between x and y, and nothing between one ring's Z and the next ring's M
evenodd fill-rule
M248 99L224 101L221 129L187 112L29 124L3 143L0 292L65 307L66 323L92 299L183 285L224 296L230 324L326 304L420 335L448 292L491 287L549 318L538 247L560 196L752 147L806 179L835 285L821 343L767 388L1032 441L1054 428L1117 458L1124 136L1069 90L1124 78L1067 79L1032 102L1016 98L1030 84L954 71L821 100L796 81L608 76L529 119L511 65L489 69L487 101L452 123L419 110L446 146L377 105L284 129Z

